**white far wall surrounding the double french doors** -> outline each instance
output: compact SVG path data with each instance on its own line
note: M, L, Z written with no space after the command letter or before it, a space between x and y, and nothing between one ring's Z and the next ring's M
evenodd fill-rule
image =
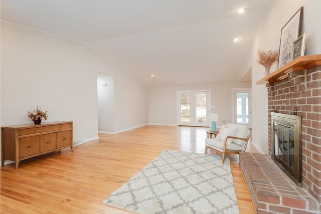
M251 88L250 82L149 86L149 124L177 125L177 91L211 90L211 112L219 114L217 126L232 122L232 89Z

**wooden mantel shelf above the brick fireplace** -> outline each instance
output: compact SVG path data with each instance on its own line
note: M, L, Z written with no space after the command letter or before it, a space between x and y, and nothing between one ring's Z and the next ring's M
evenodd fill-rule
M267 75L263 79L257 81L256 85L277 82L287 78L287 74L292 71L305 70L317 65L321 65L321 54L298 57L273 73Z

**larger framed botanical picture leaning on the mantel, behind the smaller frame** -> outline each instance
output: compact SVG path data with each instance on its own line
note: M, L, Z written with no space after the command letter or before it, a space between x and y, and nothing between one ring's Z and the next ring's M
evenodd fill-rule
M285 24L281 30L278 68L292 61L293 41L301 35L303 7Z

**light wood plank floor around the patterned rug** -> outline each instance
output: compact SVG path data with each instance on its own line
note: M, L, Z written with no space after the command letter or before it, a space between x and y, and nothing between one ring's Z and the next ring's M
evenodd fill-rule
M1 213L130 213L102 204L166 149L203 153L208 128L148 125L1 167ZM257 150L249 143L249 152ZM209 151L209 153L213 153ZM240 213L255 213L230 155Z

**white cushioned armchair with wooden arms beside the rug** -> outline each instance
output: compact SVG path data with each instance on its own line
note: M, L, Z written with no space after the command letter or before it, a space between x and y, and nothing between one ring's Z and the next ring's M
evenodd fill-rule
M250 130L248 126L228 123L226 126L222 126L215 138L205 139L204 154L207 154L208 148L214 149L218 153L223 154L222 163L224 163L226 154L244 152L249 138Z

